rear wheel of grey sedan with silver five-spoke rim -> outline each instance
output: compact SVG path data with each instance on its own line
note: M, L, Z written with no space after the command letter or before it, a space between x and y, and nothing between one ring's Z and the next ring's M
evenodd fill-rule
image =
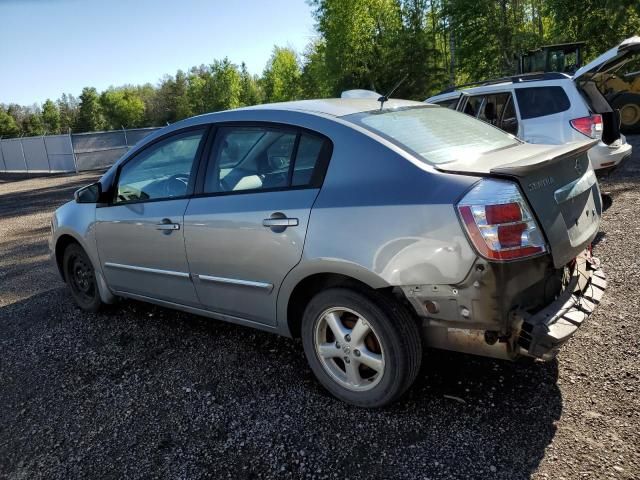
M332 329L327 329L329 323L326 318L332 313L339 315L343 327L347 324L346 317L351 318L352 330L346 331L355 334L355 322L359 319L367 326L365 328L369 328L370 333L362 337L360 347L355 343L350 344L350 335L345 336L344 343L336 346L336 358L322 358L319 353L321 347L316 348L316 344L322 344L325 348L331 347L332 344L327 338L318 339L316 342L316 338L321 336L318 334L319 331L326 332L326 335L339 343L337 335L332 335ZM321 328L322 322L326 324L324 330ZM376 291L360 292L347 288L332 288L318 293L305 309L301 334L307 361L320 383L332 395L352 405L377 408L397 400L413 384L420 370L422 342L416 321L399 302ZM359 352L358 348L362 348L363 351ZM342 357L345 352L345 356ZM382 359L382 373L359 363L362 359L369 358L371 353ZM354 354L357 354L357 358ZM340 358L337 358L338 356ZM360 388L355 383L346 386L348 366L345 362L358 371L357 377L360 379L361 375L368 371L373 372L373 375L362 379L362 388L365 390L354 390ZM334 369L338 375L332 373ZM340 369L345 370L345 378L342 380L338 378Z

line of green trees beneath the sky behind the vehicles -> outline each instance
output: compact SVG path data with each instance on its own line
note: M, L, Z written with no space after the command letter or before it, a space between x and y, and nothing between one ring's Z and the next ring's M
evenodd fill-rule
M308 0L317 36L275 46L261 75L228 58L42 105L0 104L0 136L160 126L201 113L366 88L423 100L450 85L510 75L520 53L587 42L587 60L640 32L637 0Z

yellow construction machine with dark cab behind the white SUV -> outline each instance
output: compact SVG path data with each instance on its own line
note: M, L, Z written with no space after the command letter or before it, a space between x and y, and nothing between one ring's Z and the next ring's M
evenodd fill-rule
M619 110L621 131L640 133L640 55L637 54L637 40L640 39L627 39L585 66L583 52L586 42L544 45L520 55L518 73L561 72L593 81L611 107Z

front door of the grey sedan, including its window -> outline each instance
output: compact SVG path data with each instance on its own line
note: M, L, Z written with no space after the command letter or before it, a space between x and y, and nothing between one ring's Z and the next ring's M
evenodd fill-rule
M198 305L184 247L184 212L205 129L173 134L122 165L114 198L96 209L104 275L121 293Z

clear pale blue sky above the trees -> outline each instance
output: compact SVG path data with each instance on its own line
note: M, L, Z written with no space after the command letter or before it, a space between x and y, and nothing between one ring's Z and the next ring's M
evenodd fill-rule
M153 84L225 56L260 73L315 36L304 0L0 0L0 103Z

